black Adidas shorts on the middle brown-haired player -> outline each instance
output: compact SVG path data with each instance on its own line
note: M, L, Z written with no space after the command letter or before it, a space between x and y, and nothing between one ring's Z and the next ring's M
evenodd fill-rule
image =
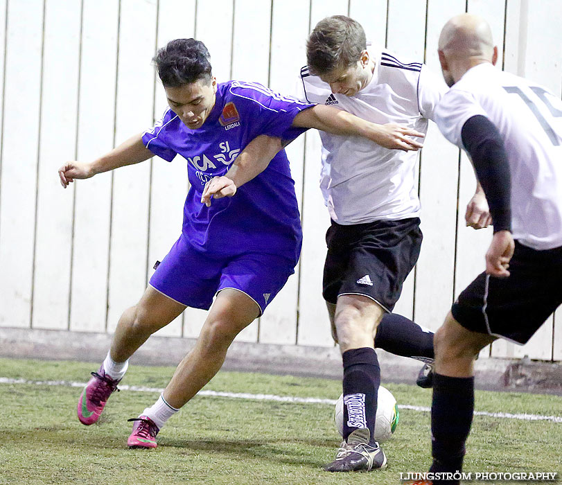
M326 232L328 254L322 294L337 303L342 294L361 294L392 312L406 276L418 261L419 218L342 225Z

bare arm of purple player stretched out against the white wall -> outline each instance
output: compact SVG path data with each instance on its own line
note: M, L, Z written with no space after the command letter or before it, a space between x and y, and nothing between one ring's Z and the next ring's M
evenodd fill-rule
M136 134L91 163L68 161L58 169L60 184L67 188L71 182L74 182L74 179L89 179L94 177L96 173L138 164L153 156L154 154L144 146L141 134Z

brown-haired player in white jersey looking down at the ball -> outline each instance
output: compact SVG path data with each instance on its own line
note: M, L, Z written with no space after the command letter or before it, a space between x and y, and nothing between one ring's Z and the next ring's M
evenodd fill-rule
M301 79L309 102L427 132L442 83L420 62L367 48L357 21L340 15L320 21L308 39L307 61ZM386 465L374 441L380 385L374 346L433 357L432 333L390 313L421 247L417 155L355 136L320 136L321 185L332 219L323 296L344 364L344 442L325 469L372 470Z

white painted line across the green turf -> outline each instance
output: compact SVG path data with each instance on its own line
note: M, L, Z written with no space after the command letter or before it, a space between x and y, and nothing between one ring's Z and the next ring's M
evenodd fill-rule
M10 379L0 377L0 384L28 384L36 386L65 386L65 387L84 387L86 382L71 382L67 380L27 380L27 379ZM161 393L164 389L159 387L143 387L120 385L119 389L123 391L136 392L155 392ZM335 399L321 398L299 398L295 396L276 396L274 394L249 394L247 392L222 392L222 391L199 391L197 396L214 396L230 399L251 399L251 400L269 400L278 403L298 403L298 404L328 404L335 405ZM430 412L429 407L412 406L408 404L398 404L399 409L410 409L417 412ZM507 412L486 412L475 411L475 416L489 416L491 418L519 419L521 421L552 421L553 423L562 423L562 416L543 416L542 414L512 414Z

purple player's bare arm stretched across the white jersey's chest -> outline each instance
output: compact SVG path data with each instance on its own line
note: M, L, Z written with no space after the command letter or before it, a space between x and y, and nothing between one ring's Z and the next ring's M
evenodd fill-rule
M423 133L403 125L387 123L378 125L331 106L315 105L301 111L292 122L293 126L316 128L324 132L363 136L385 148L419 150L423 145L408 136L423 138Z

